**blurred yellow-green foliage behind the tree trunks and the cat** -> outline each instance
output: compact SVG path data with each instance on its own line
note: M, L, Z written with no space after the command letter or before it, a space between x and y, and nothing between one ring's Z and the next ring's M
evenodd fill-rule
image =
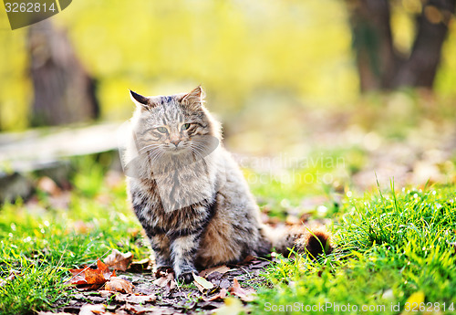
M20 130L33 99L27 27L11 31L0 11L0 128ZM395 41L407 49L411 17L403 6L394 12ZM261 106L256 99L270 91L318 106L358 97L343 1L79 0L52 19L67 30L78 57L99 80L103 119L130 116L127 89L166 94L202 83L211 109L228 119ZM451 95L455 28L452 23L436 83L439 93Z

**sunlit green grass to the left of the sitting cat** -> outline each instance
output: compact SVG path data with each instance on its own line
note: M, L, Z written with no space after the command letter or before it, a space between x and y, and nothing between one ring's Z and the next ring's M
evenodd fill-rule
M78 177L99 173L97 163L85 162ZM67 208L37 192L35 203L3 205L0 210L0 279L17 275L0 287L0 314L27 314L65 302L68 268L91 264L111 248L146 257L140 225L126 206L125 187L80 181ZM1 282L1 281L0 281Z

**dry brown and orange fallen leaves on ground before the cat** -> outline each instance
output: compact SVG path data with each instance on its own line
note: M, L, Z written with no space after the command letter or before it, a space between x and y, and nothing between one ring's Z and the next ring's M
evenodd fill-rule
M171 268L154 273L150 261L141 261L141 266L148 267L139 270L133 267L131 253L113 250L103 261L97 260L96 268L84 266L68 270L73 276L67 280L72 296L65 304L54 305L54 311L82 315L151 315L245 310L244 303L255 297L255 290L246 284L262 282L258 276L269 263L247 257L240 264L204 269L193 274L192 284L181 285L176 282ZM123 268L126 271L121 271ZM243 280L248 282L240 283Z

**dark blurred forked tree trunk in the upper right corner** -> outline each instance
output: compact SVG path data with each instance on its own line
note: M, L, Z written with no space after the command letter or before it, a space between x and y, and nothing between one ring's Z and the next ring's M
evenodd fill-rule
M346 0L362 91L401 86L432 88L456 0ZM415 37L409 54L393 42L393 5L412 7Z

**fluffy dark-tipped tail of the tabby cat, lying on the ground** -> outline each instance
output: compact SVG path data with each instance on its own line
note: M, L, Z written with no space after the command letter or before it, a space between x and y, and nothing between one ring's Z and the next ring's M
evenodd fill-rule
M291 251L316 258L333 251L331 235L324 227L264 226L264 235L277 253L288 257Z

